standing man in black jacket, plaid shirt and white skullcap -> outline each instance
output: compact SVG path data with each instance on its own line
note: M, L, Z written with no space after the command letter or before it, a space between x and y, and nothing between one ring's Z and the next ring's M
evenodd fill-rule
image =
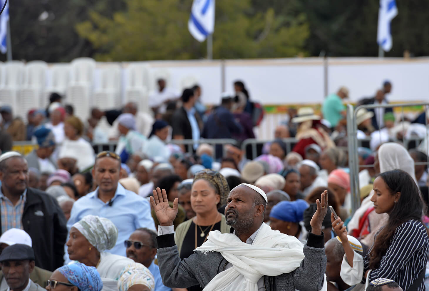
M54 271L62 266L66 218L57 201L43 191L28 188L28 165L18 152L0 156L1 233L24 229L33 240L36 266Z

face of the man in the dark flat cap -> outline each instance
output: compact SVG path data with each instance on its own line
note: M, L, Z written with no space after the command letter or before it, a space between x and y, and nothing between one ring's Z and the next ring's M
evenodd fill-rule
M0 264L10 290L23 290L30 279L34 269L34 261L3 261Z

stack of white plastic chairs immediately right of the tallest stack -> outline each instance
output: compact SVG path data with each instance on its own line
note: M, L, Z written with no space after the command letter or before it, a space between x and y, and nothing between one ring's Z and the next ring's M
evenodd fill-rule
M121 106L121 67L118 64L100 68L98 88L94 93L94 106L100 109L119 108Z

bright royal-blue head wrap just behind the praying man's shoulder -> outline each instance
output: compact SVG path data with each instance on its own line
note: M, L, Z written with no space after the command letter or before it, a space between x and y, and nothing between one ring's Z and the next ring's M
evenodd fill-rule
M304 220L304 210L307 208L308 203L301 199L281 201L273 206L269 216L282 221L298 223Z

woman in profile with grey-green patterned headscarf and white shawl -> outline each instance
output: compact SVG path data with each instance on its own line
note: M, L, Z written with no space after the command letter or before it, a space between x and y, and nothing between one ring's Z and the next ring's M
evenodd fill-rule
M118 239L118 229L107 218L86 215L70 228L66 243L70 260L96 267L103 281L103 291L117 291L119 275L133 260L113 255L112 249Z

